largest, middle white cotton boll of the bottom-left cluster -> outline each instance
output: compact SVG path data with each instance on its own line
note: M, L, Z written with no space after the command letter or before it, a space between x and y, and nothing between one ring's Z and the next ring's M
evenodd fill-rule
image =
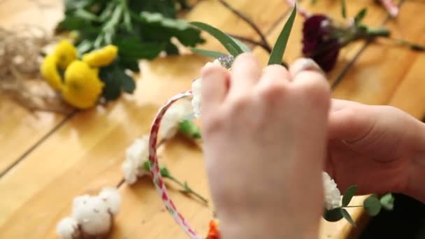
M90 196L83 203L78 203L73 208L72 216L88 235L106 234L111 226L108 204L99 196Z

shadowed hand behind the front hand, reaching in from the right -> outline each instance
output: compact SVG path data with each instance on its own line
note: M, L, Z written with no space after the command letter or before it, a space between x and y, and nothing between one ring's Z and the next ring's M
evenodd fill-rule
M425 201L425 128L390 106L333 99L326 171L343 191L398 192Z

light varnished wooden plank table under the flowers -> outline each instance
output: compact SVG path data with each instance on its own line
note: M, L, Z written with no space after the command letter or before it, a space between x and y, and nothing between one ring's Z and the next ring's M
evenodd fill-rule
M230 2L250 16L272 43L289 13L283 0ZM339 1L322 0L314 7L309 2L302 1L301 6L315 13L340 15ZM347 1L347 9L349 15L354 15L368 6L368 24L383 24L396 37L425 43L425 2L400 2L401 15L396 20L389 19L371 0ZM0 2L0 24L6 27L24 22L51 29L61 17L62 6L57 0ZM258 38L245 22L215 0L197 2L185 18L208 22L232 34ZM302 18L298 16L286 61L300 56L301 25ZM208 43L203 48L222 49L217 41L209 36L206 39ZM254 53L266 63L266 52L255 48ZM70 214L73 197L95 194L102 187L119 184L126 147L148 132L154 114L168 97L189 89L206 61L195 55L143 61L134 95L107 107L69 115L31 114L0 96L0 238L56 238L56 224ZM422 118L424 67L424 54L387 41L356 43L343 50L329 80L335 98L396 106ZM175 175L208 195L199 145L175 138L159 151L161 160ZM173 186L170 185L171 194L178 208L196 229L206 232L212 209L183 196ZM187 238L164 210L148 178L131 186L123 184L119 190L123 204L111 238ZM357 197L354 203L361 200L363 197ZM362 215L361 210L351 213L356 220ZM355 232L345 221L324 222L321 237L346 238Z

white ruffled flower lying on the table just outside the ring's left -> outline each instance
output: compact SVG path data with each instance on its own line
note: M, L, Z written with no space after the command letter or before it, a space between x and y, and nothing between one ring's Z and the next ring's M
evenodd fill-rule
M127 148L122 171L124 180L128 184L134 184L138 177L143 177L147 172L143 167L149 154L149 136L144 135L134 141L133 145Z

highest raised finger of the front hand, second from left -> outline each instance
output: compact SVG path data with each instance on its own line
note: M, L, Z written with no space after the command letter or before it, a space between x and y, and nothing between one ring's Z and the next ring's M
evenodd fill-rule
M254 55L244 53L238 56L231 70L229 98L240 96L256 85L260 73L259 63Z

